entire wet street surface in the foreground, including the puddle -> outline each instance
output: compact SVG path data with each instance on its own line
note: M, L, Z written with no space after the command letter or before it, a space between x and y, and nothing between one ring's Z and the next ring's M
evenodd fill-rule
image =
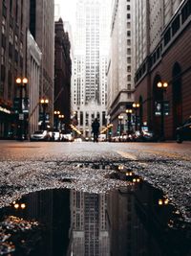
M0 255L191 255L188 144L1 146Z

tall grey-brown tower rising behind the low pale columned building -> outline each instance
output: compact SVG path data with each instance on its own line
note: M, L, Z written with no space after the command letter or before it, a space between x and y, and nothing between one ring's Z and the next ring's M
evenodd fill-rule
M53 125L54 1L30 1L30 31L42 52L40 98L47 98L50 125ZM42 109L40 110L42 112Z

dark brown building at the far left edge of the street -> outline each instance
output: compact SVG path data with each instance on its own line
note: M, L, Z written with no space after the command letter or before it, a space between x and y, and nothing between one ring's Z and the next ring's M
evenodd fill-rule
M29 89L28 84L21 88L15 82L17 77L27 76L28 13L29 1L3 0L0 3L0 137L3 138L13 138L16 135L20 92L22 89L22 95L26 98Z

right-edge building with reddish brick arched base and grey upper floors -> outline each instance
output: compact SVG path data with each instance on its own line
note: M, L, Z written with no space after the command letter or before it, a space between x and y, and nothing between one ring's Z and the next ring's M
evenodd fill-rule
M140 2L135 1L133 9L139 128L172 139L191 111L191 1ZM168 86L159 88L159 81Z

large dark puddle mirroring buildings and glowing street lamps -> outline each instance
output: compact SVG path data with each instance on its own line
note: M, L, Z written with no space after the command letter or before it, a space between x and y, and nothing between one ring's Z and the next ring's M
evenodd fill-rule
M0 211L0 255L188 256L190 229L169 199L132 170L108 194L46 190Z

